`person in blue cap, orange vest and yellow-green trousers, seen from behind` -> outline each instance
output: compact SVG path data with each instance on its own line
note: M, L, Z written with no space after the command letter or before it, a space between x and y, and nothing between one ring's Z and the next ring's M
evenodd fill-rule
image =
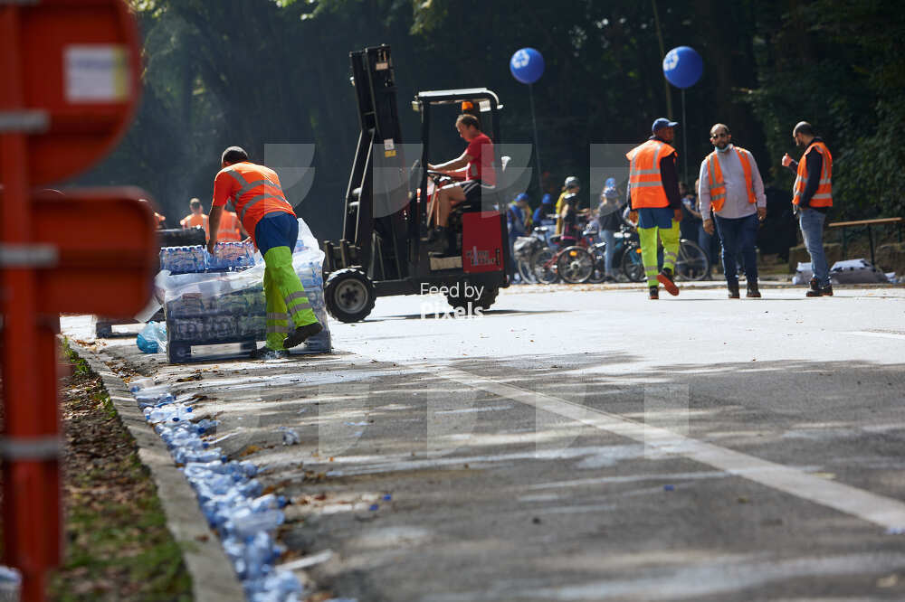
M653 122L651 136L625 156L629 160L629 219L638 224L641 257L647 276L648 295L660 298L660 282L670 295L678 295L672 270L679 252L681 197L676 158L679 154L669 143L679 124L659 118ZM663 268L657 273L657 234L663 241Z

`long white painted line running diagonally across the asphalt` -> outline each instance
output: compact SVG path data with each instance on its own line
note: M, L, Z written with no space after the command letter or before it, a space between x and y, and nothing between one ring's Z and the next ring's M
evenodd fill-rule
M730 475L741 476L749 481L767 485L767 487L809 502L819 503L842 513L851 514L887 529L905 528L905 503L889 497L872 494L851 485L827 481L795 468L748 456L691 437L684 437L665 428L624 419L552 395L502 384L449 366L423 363L413 366L413 368L415 370L424 369L449 381L483 390L502 398L519 401L519 403L576 420L576 422L605 430L614 435L634 439L661 453L687 457L701 464L718 468Z

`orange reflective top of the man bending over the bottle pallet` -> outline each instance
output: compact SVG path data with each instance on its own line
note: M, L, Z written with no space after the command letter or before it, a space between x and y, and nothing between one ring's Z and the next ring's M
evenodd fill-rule
M271 168L248 161L220 170L214 178L214 207L233 200L235 212L254 240L254 229L268 213L295 215L282 192L280 176Z

